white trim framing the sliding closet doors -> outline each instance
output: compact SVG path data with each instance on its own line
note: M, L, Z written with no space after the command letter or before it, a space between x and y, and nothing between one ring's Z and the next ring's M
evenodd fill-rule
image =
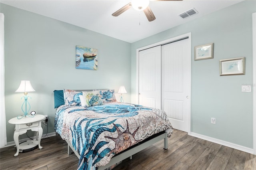
M162 45L162 44L165 44L165 43L168 43L168 42L173 42L173 41L176 41L176 40L180 40L182 38L185 38L185 37L188 37L188 40L189 40L189 47L190 47L190 54L191 54L191 32L187 33L187 34L183 34L183 35L180 35L180 36L177 36L177 37L174 37L174 38L170 38L168 40L164 40L162 42L157 42L157 43L154 43L154 44L151 44L151 45L147 45L145 47L141 47L141 48L138 48L136 50L136 94L137 94L137 97L136 97L136 103L138 104L138 101L139 101L139 51L141 50L144 50L144 49L148 49L148 48L151 48L151 47L155 47L155 46L158 46L158 45ZM190 56L191 58L191 56ZM190 80L191 81L191 80ZM191 95L190 95L191 96ZM191 107L191 106L190 106ZM190 135L190 121L191 121L191 112L190 112L190 115L188 115L188 134Z

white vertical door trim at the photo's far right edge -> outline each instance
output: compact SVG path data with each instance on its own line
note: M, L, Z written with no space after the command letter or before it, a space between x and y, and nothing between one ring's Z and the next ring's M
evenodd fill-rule
M256 12L252 14L253 56L253 154L256 154Z

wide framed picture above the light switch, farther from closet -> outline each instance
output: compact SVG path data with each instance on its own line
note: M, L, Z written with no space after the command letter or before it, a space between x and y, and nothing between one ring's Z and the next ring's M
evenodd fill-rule
M220 75L243 74L245 74L245 57L220 60Z

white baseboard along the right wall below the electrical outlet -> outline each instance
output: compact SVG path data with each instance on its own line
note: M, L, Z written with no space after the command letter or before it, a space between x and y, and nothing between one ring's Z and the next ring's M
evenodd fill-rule
M194 137L197 137L197 138L200 138L200 139L208 140L210 142L214 142L214 143L217 143L217 144L228 146L228 147L233 148L233 149L241 150L243 152L254 154L253 148L247 148L245 146L241 146L241 145L234 144L234 143L231 143L231 142L227 142L227 141L224 141L224 140L212 138L212 137L209 137L209 136L204 136L202 134L198 134L198 133L194 133L194 132L190 132L190 135L194 136Z

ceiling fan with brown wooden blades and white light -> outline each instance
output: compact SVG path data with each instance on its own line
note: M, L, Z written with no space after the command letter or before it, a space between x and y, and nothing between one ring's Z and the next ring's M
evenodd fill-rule
M131 2L129 4L126 4L125 6L123 6L122 8L117 10L116 12L114 12L112 14L112 16L119 16L120 14L125 12L126 10L133 7L135 10L138 10L138 11L143 10L143 12L146 15L146 17L148 18L149 22L154 21L156 19L156 17L154 16L151 8L148 6L149 1L150 0L131 0ZM151 1L178 1L178 0L151 0Z

